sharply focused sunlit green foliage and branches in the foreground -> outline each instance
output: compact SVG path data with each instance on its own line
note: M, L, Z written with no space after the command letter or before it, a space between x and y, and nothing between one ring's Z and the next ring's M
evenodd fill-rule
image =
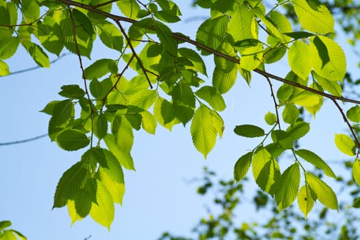
M241 137L259 139L234 161L234 180L243 180L251 167L278 211L296 199L304 218L317 200L339 210L336 193L307 165L330 178L338 173L316 149L298 145L311 128L304 112L315 117L330 99L348 127L334 132L335 144L352 157L352 176L360 184L360 101L343 93L350 77L345 53L334 40L336 3L197 0L194 5L209 14L190 38L171 30L171 23L182 21L173 1L0 0L0 75L11 73L6 60L19 47L39 67L50 67L49 55L69 51L82 73L82 80L62 86L59 99L42 110L49 115L51 141L67 151L86 149L60 178L53 208L67 206L72 223L90 215L110 229L114 204L122 204L125 193L123 171L135 170L134 131L155 134L158 125L168 130L190 125L193 145L206 158L224 134L221 112L228 103L223 96L237 80L250 85L256 73L267 82L274 108L264 116L267 125L230 126ZM350 22L342 21L344 27ZM350 26L344 29L354 34L355 45L359 29ZM86 66L84 58L91 59L97 38L117 58L104 56ZM212 72L204 64L208 56L213 56ZM291 69L287 75L267 71L283 58ZM274 88L272 81L282 85ZM292 161L280 169L284 154ZM355 206L359 202L358 197Z

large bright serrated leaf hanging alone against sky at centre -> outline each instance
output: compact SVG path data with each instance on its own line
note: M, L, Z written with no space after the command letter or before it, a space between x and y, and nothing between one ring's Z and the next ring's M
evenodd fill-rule
M197 108L191 122L190 132L195 148L206 158L213 149L217 136L209 108L204 105Z

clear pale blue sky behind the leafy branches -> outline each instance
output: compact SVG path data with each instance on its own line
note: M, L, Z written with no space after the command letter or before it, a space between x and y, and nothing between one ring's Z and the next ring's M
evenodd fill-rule
M190 8L189 1L176 1L182 19L206 16L206 10ZM184 32L194 38L202 20L174 25L174 32ZM112 52L96 45L92 59L111 58ZM347 53L348 54L348 53ZM54 59L51 56L51 59ZM88 64L88 61L85 61ZM8 61L11 71L34 67L23 50ZM349 63L354 64L354 62ZM213 60L206 61L212 75ZM285 76L287 62L279 62L271 72ZM211 78L207 80L211 81ZM51 69L36 69L27 73L0 78L0 142L16 141L47 132L49 116L42 110L47 102L61 99L57 93L64 84L82 86L76 56L66 56ZM274 83L279 86L278 83ZM53 193L62 173L80 160L83 151L65 152L48 137L19 145L0 146L0 221L10 220L13 228L28 239L156 239L169 230L186 234L206 213L204 200L195 193L196 184L188 181L202 175L207 166L220 177L231 178L239 156L252 149L258 140L243 139L233 134L235 125L252 123L267 128L263 116L274 104L265 79L253 73L251 88L239 77L237 84L226 94L227 108L222 112L226 123L224 137L204 160L191 141L189 125L177 125L172 132L158 126L156 135L136 132L132 151L136 172L125 171L123 206L117 206L110 232L87 217L70 227L67 208L51 211ZM301 140L303 147L313 149L324 159L344 158L334 144L334 133L344 132L346 125L335 106L326 101L311 133ZM329 130L330 129L330 130ZM250 214L241 219L256 219ZM311 215L309 215L311 217ZM316 217L316 216L315 216Z

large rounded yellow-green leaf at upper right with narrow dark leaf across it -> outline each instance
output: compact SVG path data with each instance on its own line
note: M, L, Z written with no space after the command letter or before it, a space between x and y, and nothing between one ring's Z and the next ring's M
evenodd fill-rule
M328 49L330 60L324 60L326 58L323 56L324 53L319 53L314 43L315 38L311 38L310 53L314 71L327 80L342 82L346 73L346 56L343 49L331 38L326 36L317 36L317 38L320 38ZM324 62L327 63L324 65Z

